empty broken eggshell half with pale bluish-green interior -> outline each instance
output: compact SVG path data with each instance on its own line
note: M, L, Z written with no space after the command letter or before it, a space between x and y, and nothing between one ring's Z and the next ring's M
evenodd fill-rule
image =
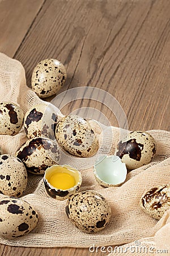
M126 180L126 164L121 162L118 156L100 156L94 166L96 181L102 187L118 186Z

